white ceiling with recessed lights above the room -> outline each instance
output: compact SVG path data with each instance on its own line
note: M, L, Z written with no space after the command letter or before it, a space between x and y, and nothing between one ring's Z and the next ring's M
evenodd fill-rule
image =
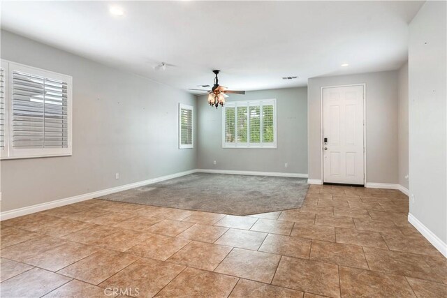
M179 89L399 68L422 1L3 1L1 27ZM125 15L110 15L111 5ZM165 61L166 70L153 66ZM349 63L348 67L341 67ZM297 75L298 80L281 80Z

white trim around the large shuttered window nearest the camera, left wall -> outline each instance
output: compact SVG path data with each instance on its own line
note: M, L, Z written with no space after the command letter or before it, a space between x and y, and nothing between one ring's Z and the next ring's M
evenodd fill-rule
M6 67L4 67L6 65ZM64 75L61 73L55 73L51 70L44 70L33 66L27 66L24 64L18 64L13 61L1 59L1 67L7 69L5 77L5 152L0 156L1 160L5 159L17 159L17 158L42 158L42 157L55 157L55 156L71 156L73 155L72 149L72 130L73 130L73 77ZM48 77L54 80L62 80L67 82L67 148L34 148L34 149L13 149L13 142L10 141L10 129L13 124L13 117L10 117L13 107L12 102L12 88L10 88L12 82L13 70L20 70L23 68L25 73L33 75L40 75ZM30 71L31 70L31 71Z

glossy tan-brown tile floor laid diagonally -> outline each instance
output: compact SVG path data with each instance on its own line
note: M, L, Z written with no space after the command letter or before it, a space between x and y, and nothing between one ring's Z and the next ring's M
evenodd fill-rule
M251 216L88 200L1 222L1 297L447 297L399 191ZM320 295L320 296L318 296Z

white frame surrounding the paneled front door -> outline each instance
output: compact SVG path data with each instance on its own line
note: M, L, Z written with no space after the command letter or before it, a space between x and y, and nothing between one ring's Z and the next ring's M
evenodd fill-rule
M367 181L367 170L366 170L366 83L359 84L344 84L344 85L334 85L334 86L323 86L320 89L320 160L321 160L321 184L324 184L324 165L323 165L323 89L325 88L337 88L337 87L353 87L362 86L363 87L363 186L366 187Z

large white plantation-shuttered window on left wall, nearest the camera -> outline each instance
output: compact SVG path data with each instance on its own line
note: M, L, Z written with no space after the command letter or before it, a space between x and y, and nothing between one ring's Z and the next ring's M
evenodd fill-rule
M71 77L8 62L8 156L71 155Z

